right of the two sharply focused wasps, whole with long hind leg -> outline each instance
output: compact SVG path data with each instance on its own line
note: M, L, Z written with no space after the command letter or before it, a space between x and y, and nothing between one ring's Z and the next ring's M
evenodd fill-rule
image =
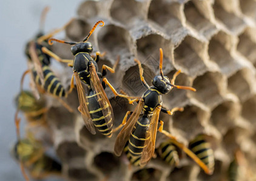
M153 153L155 151L155 139L157 136L157 130L159 130L164 135L168 136L169 138L173 139L173 144L180 147L184 150L190 157L192 157L203 169L206 173L210 173L207 169L206 165L195 156L192 151L186 148L183 144L176 141L176 138L170 133L163 130L163 121L160 121L160 128L158 127L158 118L160 112L167 113L172 115L173 112L183 109L180 107L175 107L172 110L166 110L162 107L162 95L168 94L173 87L177 87L178 89L187 89L193 90L192 87L187 86L177 86L174 84L175 78L180 71L177 71L174 75L172 80L170 81L168 77L163 75L162 66L163 66L163 50L160 48L160 75L157 75L153 78L152 84L153 86L149 87L143 77L143 68L141 67L141 63L139 60L135 59L135 62L138 63L140 69L140 78L144 86L147 87L146 92L144 92L141 98L135 98L133 100L132 97L127 95L118 94L111 84L106 80L103 81L112 88L113 93L116 96L124 97L130 100L130 103L138 102L138 106L136 106L133 112L128 111L126 116L124 116L122 124L125 124L121 132L119 133L118 137L116 138L115 142L115 154L120 156L124 150L124 146L128 142L128 150L132 157L136 157L140 160L140 166L143 167L144 165L149 162ZM127 120L127 116L130 115L130 118ZM126 121L127 120L127 121Z

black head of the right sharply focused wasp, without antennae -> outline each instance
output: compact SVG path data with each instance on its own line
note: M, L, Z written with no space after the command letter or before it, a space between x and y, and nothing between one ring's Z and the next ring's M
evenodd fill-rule
M170 83L169 78L164 76L164 80L163 80L161 75L155 76L152 80L153 86L155 86L157 90L162 94L167 94L172 89L172 86L170 86L168 83Z

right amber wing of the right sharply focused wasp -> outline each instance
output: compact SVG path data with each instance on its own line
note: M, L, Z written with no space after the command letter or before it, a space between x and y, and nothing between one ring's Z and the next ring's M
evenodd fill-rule
M141 166L144 166L147 164L147 162L149 162L149 160L151 159L155 151L155 139L157 137L157 125L158 125L160 111L161 111L161 106L157 106L153 111L153 115L150 120L149 130L146 135L146 138L148 138L149 136L150 138L145 141L145 147L143 148L143 151L141 154L141 162L140 162Z

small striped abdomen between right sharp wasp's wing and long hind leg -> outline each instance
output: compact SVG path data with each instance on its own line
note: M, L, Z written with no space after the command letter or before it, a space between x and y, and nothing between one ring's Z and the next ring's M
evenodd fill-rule
M161 159L173 167L177 166L180 162L176 147L169 140L161 143L158 148L158 154Z

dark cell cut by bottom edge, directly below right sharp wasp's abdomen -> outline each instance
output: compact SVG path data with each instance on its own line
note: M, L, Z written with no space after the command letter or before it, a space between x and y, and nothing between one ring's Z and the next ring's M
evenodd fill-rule
M136 171L132 175L133 181L136 180L160 180L161 171L155 168L144 168L141 170Z

